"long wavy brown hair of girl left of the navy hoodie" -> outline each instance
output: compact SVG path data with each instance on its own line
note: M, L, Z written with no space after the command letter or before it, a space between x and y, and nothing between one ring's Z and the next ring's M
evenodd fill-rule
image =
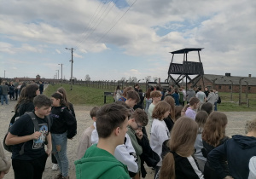
M212 112L207 118L207 123L202 131L202 140L214 147L217 147L225 136L226 124L228 124L226 114Z

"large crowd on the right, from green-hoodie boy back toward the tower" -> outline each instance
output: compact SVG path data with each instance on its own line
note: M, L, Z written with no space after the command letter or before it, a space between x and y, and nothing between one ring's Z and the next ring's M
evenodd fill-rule
M217 112L216 90L170 88L165 94L152 87L143 94L138 85L118 86L113 97L115 103L91 111L94 124L79 143L77 178L144 178L144 165L160 179L256 177L256 118L247 121L246 136L226 136L228 118Z

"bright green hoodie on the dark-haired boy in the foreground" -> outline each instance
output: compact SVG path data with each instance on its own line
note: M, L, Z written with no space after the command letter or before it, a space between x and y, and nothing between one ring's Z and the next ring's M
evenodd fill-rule
M108 151L96 147L96 144L89 147L84 157L74 164L77 179L130 179L127 167Z

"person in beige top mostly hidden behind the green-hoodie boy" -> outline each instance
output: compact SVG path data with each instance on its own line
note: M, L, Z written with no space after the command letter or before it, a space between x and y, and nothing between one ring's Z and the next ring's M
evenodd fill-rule
M84 153L91 146L90 136L93 130L95 130L96 125L96 113L100 109L100 107L93 107L90 110L90 118L94 121L94 124L90 125L87 129L84 130L80 141L79 141L79 147L77 150L77 159L81 159L84 157Z

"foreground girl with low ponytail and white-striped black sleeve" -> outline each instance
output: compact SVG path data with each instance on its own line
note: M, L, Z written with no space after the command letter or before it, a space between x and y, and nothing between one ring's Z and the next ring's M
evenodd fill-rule
M194 143L198 125L187 117L178 118L172 128L171 139L167 143L169 152L163 159L160 168L160 179L203 179L195 159L191 156L194 152Z

